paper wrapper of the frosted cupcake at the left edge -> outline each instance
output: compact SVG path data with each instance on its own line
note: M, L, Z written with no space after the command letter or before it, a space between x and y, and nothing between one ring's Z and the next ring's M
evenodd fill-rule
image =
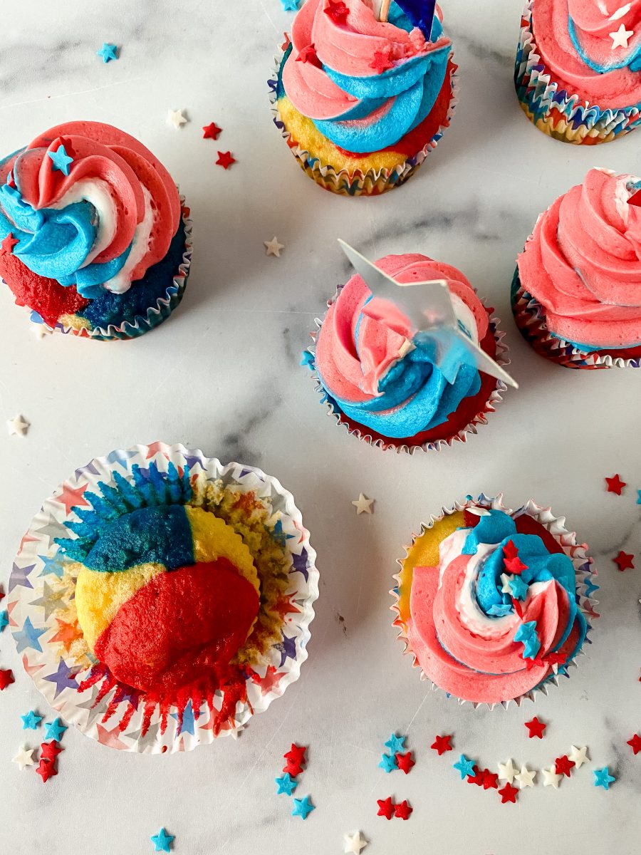
M185 293L187 280L189 279L189 270L191 266L191 230L192 222L189 217L190 209L185 208L185 197L180 197L180 209L182 212L182 221L185 227L185 251L183 252L183 260L179 265L177 272L173 275L173 281L168 286L163 297L156 300L156 304L150 306L147 314L138 315L135 321L123 321L119 326L109 324L108 327L94 327L93 329L76 329L70 325L57 323L53 327L59 333L65 333L80 336L85 339L95 339L96 341L110 341L112 339L138 339L144 333L149 333L150 330L158 327L165 321L173 310L178 306ZM135 287L135 285L133 286ZM44 327L52 329L44 323L37 312L32 311L32 322L44 324Z

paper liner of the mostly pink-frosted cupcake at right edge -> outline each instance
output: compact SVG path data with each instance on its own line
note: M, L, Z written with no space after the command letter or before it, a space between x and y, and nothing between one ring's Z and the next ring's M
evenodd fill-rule
M624 351L581 351L571 342L548 331L545 310L520 283L519 268L515 270L511 288L512 311L520 334L540 356L567 369L641 368L641 348L638 354L625 357Z

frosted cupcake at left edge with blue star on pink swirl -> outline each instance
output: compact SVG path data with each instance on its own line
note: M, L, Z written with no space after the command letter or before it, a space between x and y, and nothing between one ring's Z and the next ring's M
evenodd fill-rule
M0 275L33 321L131 339L182 299L188 214L167 169L137 139L67 122L0 163Z

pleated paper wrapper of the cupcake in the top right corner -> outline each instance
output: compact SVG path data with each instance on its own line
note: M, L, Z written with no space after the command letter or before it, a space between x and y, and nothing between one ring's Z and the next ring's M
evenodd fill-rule
M515 86L521 109L539 130L573 144L617 139L641 124L638 107L602 109L560 89L538 53L532 32L532 6L526 3L516 53Z

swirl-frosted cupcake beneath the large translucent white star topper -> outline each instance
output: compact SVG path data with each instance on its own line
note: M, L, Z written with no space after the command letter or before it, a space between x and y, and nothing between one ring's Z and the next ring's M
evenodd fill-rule
M398 283L446 285L455 324L491 360L509 363L497 319L459 270L418 254L386 256L376 268ZM399 300L405 290L399 288ZM425 308L428 299L425 292ZM400 303L373 298L362 277L352 276L317 321L315 349L303 363L338 423L372 445L411 452L465 441L502 400L505 383L479 371L459 339L415 332L403 311Z

